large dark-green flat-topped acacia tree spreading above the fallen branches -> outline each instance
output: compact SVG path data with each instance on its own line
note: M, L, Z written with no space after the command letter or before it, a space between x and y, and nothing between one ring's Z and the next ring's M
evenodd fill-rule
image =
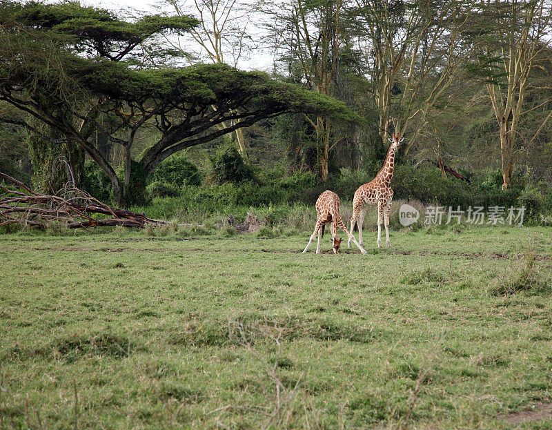
M77 3L70 4L77 7ZM51 12L49 7L44 6L46 12ZM335 115L344 121L357 119L329 97L279 83L261 72L241 72L222 64L136 70L132 63L117 61L144 40L144 28L149 32L159 26L185 30L195 23L190 17L144 17L128 23L114 22L108 14L79 23L55 12L48 19L61 19L61 23L52 24L43 18L46 14L23 13L14 20L16 14L8 12L3 14L0 29L0 100L28 118L4 116L0 120L24 126L53 145L78 144L110 178L118 204L132 199L128 195L132 186L166 157L260 119L295 111ZM43 22L40 26L37 19ZM88 51L103 55L86 57ZM115 119L112 127L103 126L103 117ZM42 133L33 121L59 135ZM226 126L217 128L221 124ZM155 131L156 141L132 160L135 139L146 128ZM124 179L97 148L94 130L124 148Z

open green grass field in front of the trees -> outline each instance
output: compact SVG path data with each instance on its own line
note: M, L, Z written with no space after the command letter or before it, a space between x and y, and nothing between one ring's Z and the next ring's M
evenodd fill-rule
M308 234L0 235L0 427L552 428L552 228Z

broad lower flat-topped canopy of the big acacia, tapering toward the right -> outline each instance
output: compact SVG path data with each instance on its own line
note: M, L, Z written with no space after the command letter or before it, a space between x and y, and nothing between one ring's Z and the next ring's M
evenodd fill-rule
M136 71L101 62L77 73L83 86L105 100L105 113L119 117L130 134L138 118L160 133L161 139L141 159L148 175L179 150L282 113L312 113L349 123L362 121L341 101L276 81L264 72L244 72L225 64ZM117 108L121 101L126 108ZM217 125L226 127L220 129Z

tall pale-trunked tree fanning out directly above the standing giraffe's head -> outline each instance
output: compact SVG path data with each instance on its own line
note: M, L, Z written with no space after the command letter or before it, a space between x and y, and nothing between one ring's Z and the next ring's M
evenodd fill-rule
M361 72L372 85L380 137L388 135L391 123L404 134L414 122L408 153L428 115L438 115L457 97L456 90L465 89L454 84L473 50L464 39L471 8L457 0L355 1L351 22L364 57Z

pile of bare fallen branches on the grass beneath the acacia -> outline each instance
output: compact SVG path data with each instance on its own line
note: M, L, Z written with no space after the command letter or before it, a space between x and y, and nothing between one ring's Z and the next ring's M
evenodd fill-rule
M91 228L168 224L150 219L144 213L112 208L73 186L62 188L56 195L41 195L6 173L0 172L0 177L13 184L10 188L0 185L4 191L0 195L0 226L20 224L23 228L34 226L44 229L48 226Z

